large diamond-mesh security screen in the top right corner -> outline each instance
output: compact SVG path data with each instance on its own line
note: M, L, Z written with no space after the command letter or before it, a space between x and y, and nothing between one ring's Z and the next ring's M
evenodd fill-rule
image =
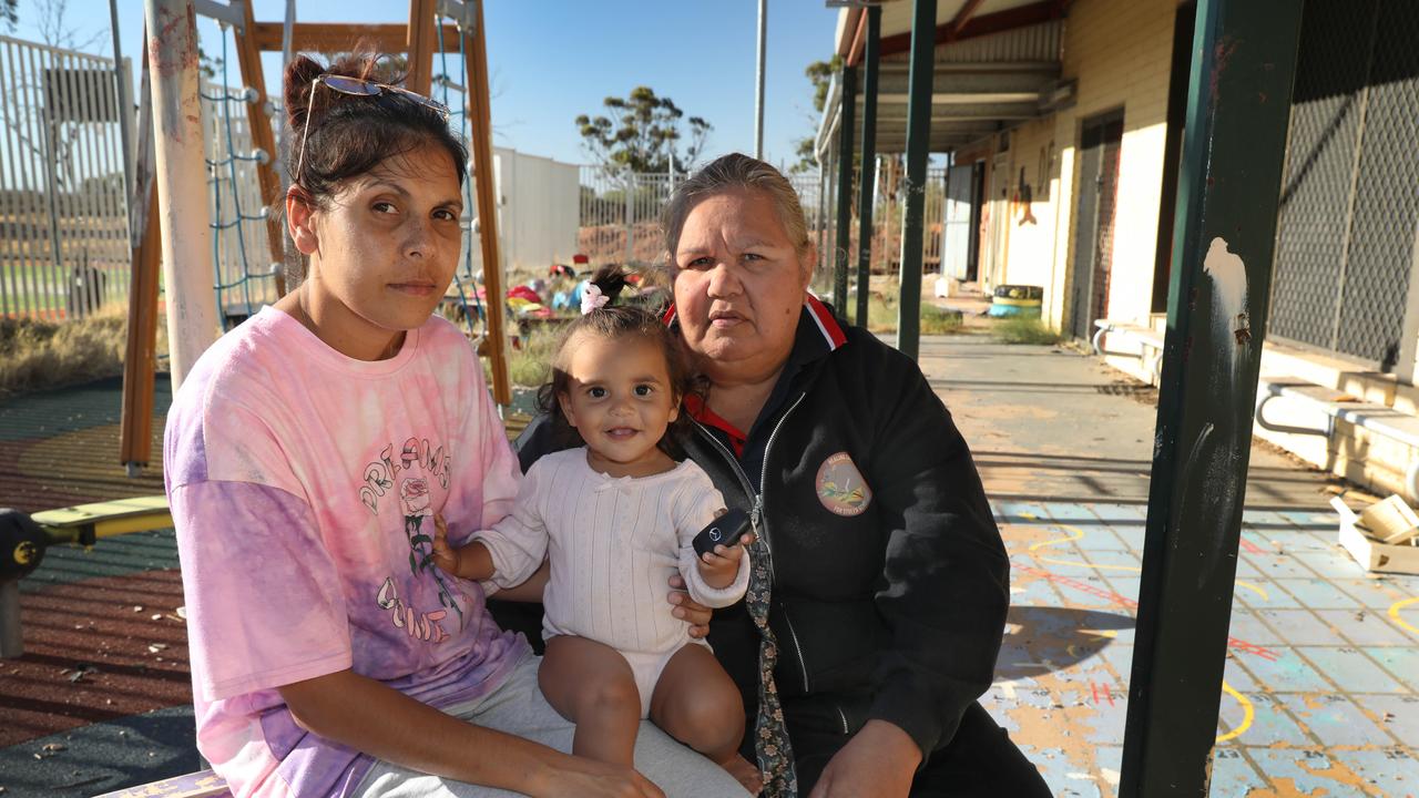
M1269 334L1395 365L1419 229L1419 4L1308 0Z

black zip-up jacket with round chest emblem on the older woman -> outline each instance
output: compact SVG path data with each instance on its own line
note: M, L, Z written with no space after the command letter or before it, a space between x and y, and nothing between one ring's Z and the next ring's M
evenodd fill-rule
M921 369L809 300L748 436L692 415L685 453L753 514L772 554L790 734L849 736L880 718L925 763L990 686L1009 559L971 452ZM539 432L525 436L524 467L549 450ZM710 642L752 726L759 636L742 602L714 613Z

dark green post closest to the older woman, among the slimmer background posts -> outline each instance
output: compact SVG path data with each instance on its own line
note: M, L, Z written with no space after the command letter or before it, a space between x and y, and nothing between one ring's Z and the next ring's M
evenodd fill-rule
M927 210L927 151L931 148L931 80L935 72L937 0L912 0L911 75L907 80L907 193L901 220L901 301L897 348L917 359L921 341L922 216Z

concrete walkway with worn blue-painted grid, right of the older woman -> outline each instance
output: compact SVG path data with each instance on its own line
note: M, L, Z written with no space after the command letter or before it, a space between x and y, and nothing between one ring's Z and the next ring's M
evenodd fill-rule
M1056 795L1112 797L1122 760L1154 392L1059 346L922 341L1012 561L982 699ZM1419 576L1335 545L1338 480L1256 444L1212 795L1419 794Z

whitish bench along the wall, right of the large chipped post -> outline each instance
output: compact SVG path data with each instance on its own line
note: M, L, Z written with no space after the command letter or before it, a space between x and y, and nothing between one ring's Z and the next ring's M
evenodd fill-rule
M1305 402L1327 416L1325 427L1303 427L1271 423L1266 419L1266 405L1277 398ZM1419 447L1419 417L1374 402L1361 402L1348 393L1301 381L1261 379L1256 390L1256 425L1261 429L1286 434L1318 434L1330 437L1335 422L1342 420L1357 427L1382 434L1405 446ZM1405 493L1409 501L1419 501L1419 459L1410 460L1405 469Z

